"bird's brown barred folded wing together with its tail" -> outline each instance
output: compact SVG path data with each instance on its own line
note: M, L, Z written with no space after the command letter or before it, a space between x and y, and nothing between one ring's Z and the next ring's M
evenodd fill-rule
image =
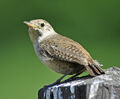
M90 75L104 74L100 66L94 64L89 53L77 42L59 36L44 40L40 46L51 57L67 62L74 62L83 65Z

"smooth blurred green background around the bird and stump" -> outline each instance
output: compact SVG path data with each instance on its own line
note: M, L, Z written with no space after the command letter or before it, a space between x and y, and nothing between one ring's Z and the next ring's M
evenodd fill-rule
M23 21L43 18L108 68L120 66L120 0L1 0L0 99L37 99L57 74L34 53Z

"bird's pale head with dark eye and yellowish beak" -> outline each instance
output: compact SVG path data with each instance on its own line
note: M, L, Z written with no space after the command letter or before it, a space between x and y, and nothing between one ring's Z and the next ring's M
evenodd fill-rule
M24 21L25 24L29 27L30 39L34 43L37 39L42 41L45 37L55 34L52 26L43 19L36 19L31 21Z

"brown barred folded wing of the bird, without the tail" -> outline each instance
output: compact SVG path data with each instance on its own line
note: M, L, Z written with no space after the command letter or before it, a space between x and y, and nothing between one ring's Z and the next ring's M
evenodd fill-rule
M90 58L89 53L80 44L65 37L46 40L41 46L51 57L58 60L87 65L87 59Z

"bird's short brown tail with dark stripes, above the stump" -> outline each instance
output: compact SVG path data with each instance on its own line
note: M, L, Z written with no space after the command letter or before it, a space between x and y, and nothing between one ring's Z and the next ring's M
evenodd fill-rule
M101 65L96 61L94 61L92 64L89 64L87 66L87 70L90 72L91 76L105 74L105 71L101 68Z

